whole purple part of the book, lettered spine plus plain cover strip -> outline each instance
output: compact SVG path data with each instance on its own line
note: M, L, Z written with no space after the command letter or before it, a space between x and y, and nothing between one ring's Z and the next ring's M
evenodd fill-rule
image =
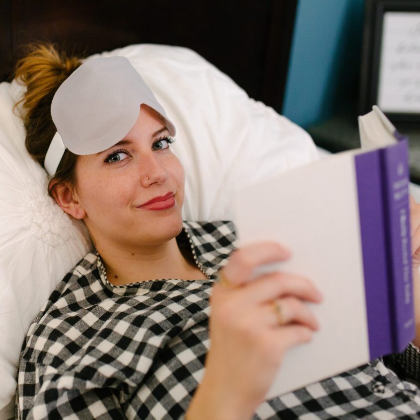
M371 359L404 350L415 335L408 140L395 137L355 156Z

